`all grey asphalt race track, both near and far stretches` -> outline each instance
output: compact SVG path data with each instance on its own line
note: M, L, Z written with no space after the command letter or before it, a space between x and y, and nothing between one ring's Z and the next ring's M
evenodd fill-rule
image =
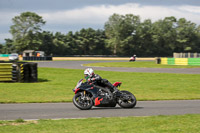
M52 61L38 62L38 67L85 69L82 64L107 61ZM110 62L110 61L109 61ZM118 62L118 61L116 61ZM95 70L121 72L200 74L200 68L112 68L93 67ZM138 101L135 108L92 108L79 110L72 103L0 104L0 120L62 119L88 117L126 117L152 115L200 114L200 100Z

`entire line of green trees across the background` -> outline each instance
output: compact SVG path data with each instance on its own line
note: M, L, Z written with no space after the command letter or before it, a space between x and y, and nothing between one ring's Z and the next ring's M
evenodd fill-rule
M152 22L141 21L133 14L113 14L104 29L82 28L80 31L43 31L46 23L33 12L12 19L12 39L0 44L0 53L45 51L47 55L117 55L140 57L172 56L173 52L200 52L200 25L173 16Z

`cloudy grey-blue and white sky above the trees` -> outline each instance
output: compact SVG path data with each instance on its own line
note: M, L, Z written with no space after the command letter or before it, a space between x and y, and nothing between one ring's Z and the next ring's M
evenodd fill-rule
M0 0L0 42L12 38L12 18L31 11L47 22L43 30L68 33L103 29L113 13L139 15L157 21L168 16L200 25L200 0Z

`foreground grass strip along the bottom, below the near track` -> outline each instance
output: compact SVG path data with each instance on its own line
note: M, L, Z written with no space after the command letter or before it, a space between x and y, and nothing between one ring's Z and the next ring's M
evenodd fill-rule
M180 116L114 117L0 121L1 133L200 133L200 114Z

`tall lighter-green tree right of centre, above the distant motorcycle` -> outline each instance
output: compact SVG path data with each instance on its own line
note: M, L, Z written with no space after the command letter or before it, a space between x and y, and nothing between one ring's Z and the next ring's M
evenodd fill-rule
M123 54L123 41L130 39L135 34L137 26L140 24L139 16L133 14L119 15L113 14L105 23L105 34L108 37L107 43L113 50L113 54Z

